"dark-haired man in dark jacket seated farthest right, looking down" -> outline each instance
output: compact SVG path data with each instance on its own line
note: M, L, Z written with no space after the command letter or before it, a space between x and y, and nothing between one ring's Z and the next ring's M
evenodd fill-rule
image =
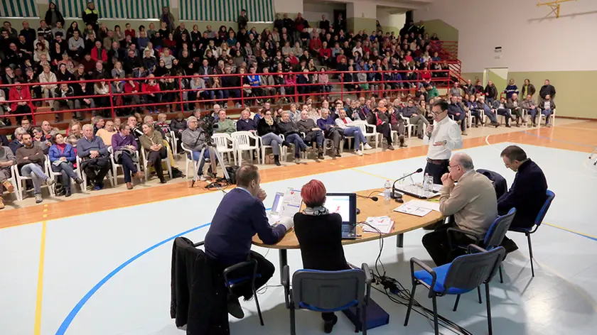
M510 190L497 199L497 211L506 214L516 207L516 214L510 227L529 228L534 224L539 210L547 199L547 180L537 164L517 145L507 146L500 154L504 164L516 172ZM510 238L504 236L502 246L508 253L518 249Z

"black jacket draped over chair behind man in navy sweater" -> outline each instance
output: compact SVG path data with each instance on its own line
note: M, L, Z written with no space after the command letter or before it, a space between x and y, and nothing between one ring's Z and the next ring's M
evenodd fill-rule
M188 238L172 246L170 317L188 335L229 335L227 289L220 267Z

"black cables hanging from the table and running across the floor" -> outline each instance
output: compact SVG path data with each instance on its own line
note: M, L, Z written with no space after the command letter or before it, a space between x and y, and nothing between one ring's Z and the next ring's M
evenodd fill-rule
M411 297L410 291L407 290L406 287L404 287L404 285L402 285L402 283L400 283L398 280L395 280L394 278L388 277L386 275L384 264L381 260L382 251L384 248L384 243L383 243L384 238L383 238L382 232L379 229L377 229L376 227L371 226L370 224L368 224L365 221L359 222L359 224L364 224L365 226L369 226L371 229L377 231L377 234L380 234L380 252L377 254L377 258L375 259L375 271L371 270L371 273L373 276L373 283L375 285L381 285L383 287L383 289L380 289L375 286L372 286L372 288L374 290L377 290L378 292L381 292L384 295L386 295L390 301L392 301L396 304L402 304L402 305L408 307L409 300ZM378 263L382 267L383 274L380 273L380 270L377 267ZM428 309L428 308L424 307L423 305L421 305L414 298L413 298L413 302L412 302L412 311L414 311L418 314L421 314L423 317L426 317L429 320L429 322L431 323L431 326L433 327L433 319L432 319L434 316L433 311L431 309ZM444 328L448 329L449 331L453 332L454 334L473 335L473 333L464 329L462 326L459 326L455 322L452 322L452 321L446 319L446 317L442 317L441 315L438 314L437 319L438 319L439 326L443 326Z

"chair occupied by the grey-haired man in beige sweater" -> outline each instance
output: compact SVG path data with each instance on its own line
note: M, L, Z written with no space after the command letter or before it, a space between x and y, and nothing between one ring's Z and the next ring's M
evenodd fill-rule
M508 229L510 229L510 224L512 224L512 220L514 220L514 216L516 214L516 209L511 208L507 214L502 216L497 216L497 219L493 221L493 224L489 226L487 233L485 234L485 238L480 238L475 234L471 234L468 231L463 231L461 229L456 228L448 228L448 243L452 246L451 234L453 232L458 231L461 234L465 234L466 236L472 237L475 239L475 244L484 248L485 250L492 250L493 248L497 248L502 244L504 236ZM461 248L465 248L464 246L460 246ZM502 265L500 264L500 282L504 282L504 277L502 275ZM481 302L481 290L478 290L479 295L479 303ZM454 309L456 311L456 309Z

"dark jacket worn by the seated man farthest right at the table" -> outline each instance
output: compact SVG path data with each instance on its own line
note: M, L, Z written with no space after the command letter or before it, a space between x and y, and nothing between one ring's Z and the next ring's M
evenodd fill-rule
M497 199L497 212L507 213L516 207L512 227L528 228L534 224L537 214L547 199L547 180L537 164L527 160L518 167L510 191Z

